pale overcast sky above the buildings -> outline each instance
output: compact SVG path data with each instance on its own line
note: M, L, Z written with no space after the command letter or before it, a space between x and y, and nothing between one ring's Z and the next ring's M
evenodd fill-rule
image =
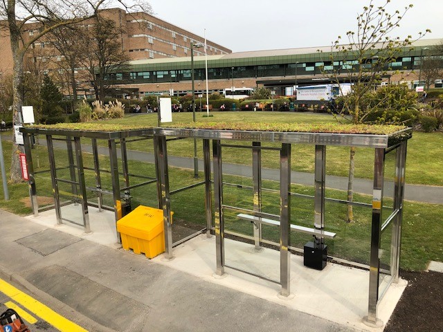
M329 46L356 31L369 0L148 0L154 16L204 36L233 52ZM376 0L380 6L386 1ZM443 38L442 0L392 0L390 12L413 4L391 37ZM343 39L342 39L343 40Z

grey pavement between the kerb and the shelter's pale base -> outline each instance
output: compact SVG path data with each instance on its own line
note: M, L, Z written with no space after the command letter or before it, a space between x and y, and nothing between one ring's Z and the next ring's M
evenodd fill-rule
M1 275L78 313L89 331L361 331L83 237L48 249L64 226L39 223L0 210Z

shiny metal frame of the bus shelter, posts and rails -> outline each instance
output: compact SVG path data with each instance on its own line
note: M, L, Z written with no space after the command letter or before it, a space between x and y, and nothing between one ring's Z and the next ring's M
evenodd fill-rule
M315 182L314 182L314 229L305 230L305 232L312 232L316 236L320 237L321 243L323 243L323 237L327 232L325 228L325 200L336 201L338 203L348 203L347 201L327 199L325 197L325 158L327 145L346 146L346 147L368 147L374 149L374 185L372 194L372 230L371 230L371 247L370 247L370 266L369 268L369 296L368 296L368 315L364 318L364 322L369 325L380 324L377 318L377 305L383 295L380 296L379 292L379 275L381 272L379 266L379 251L381 248L381 233L387 225L392 223L392 237L391 237L391 269L390 274L392 276L392 282L397 282L399 279L399 257L400 257L400 239L401 239L401 221L403 215L403 199L404 199L404 174L406 167L406 145L407 140L412 137L411 129L404 129L392 133L390 135L370 135L370 134L343 134L343 133L292 133L292 132L270 132L270 131L237 131L237 130L214 130L214 129L186 129L186 128L154 128L154 129L141 129L134 131L118 131L118 132L82 132L82 131L70 131L60 129L38 129L25 127L21 131L25 133L25 151L28 162L29 172L29 185L31 202L33 202L33 211L36 214L36 190L35 190L35 178L33 176L33 162L30 154L30 134L45 134L48 144L48 155L51 162L51 177L53 178L53 190L55 199L55 212L57 215L57 223L62 223L60 215L60 201L58 198L57 187L57 169L55 168L55 160L53 154L53 138L52 136L65 136L73 137L76 150L76 167L78 169L78 178L80 182L78 187L80 190L79 197L83 196L80 200L82 208L86 208L87 204L85 198L84 183L81 178L83 174L81 172L82 158L81 158L81 146L80 137L93 138L93 154L96 157L96 139L107 139L109 142L109 158L111 161L111 174L113 178L113 194L114 201L116 202L115 212L116 220L120 217L118 215L117 203L121 199L120 184L118 183L118 167L116 156L116 140L121 143L122 149L125 150L125 139L137 136L153 136L154 137L154 150L156 158L156 178L157 178L157 193L159 197L159 208L163 209L163 218L165 222L165 240L166 240L166 257L172 258L172 223L171 223L171 207L170 207L170 188L168 179L168 154L167 154L167 138L174 140L176 138L199 138L203 140L204 145L204 172L205 180L201 184L205 185L205 207L206 207L206 232L210 237L210 230L213 228L212 214L214 213L214 232L216 243L216 273L217 275L224 274L224 268L235 267L226 266L225 253L224 253L224 209L238 210L251 214L251 217L256 218L257 225L254 225L254 236L251 237L254 241L255 249L260 249L261 243L268 243L270 241L263 241L261 239L260 225L262 220L268 219L271 224L280 226L280 281L281 294L283 296L290 295L290 252L289 250L296 249L291 247L290 232L291 232L291 196L296 195L291 193L291 145L298 143L305 143L315 145ZM213 185L214 185L214 207L211 203L211 181L210 181L210 140L213 140ZM253 207L251 210L240 209L223 204L223 185L228 183L223 182L223 170L222 170L222 158L221 147L230 146L237 148L245 148L246 145L222 145L221 140L244 140L252 142L252 146L248 148L252 149L253 154ZM261 149L262 142L280 142L281 148L267 148L280 150L280 215L266 214L261 210L262 203L262 188L261 184ZM68 147L69 148L69 147ZM381 220L381 212L383 209L383 184L384 184L384 165L385 156L391 151L395 151L395 190L394 190L394 211L386 220ZM125 168L127 163L127 156L122 152L122 160L124 163L123 174L125 178L126 187L125 190L129 190L129 171ZM70 163L71 164L71 163ZM98 170L98 159L94 159L94 168ZM72 174L72 172L71 172ZM74 183L73 176L71 175L71 181ZM66 181L65 181L66 182ZM199 183L200 184L200 183ZM197 185L199 185L197 184ZM191 185L188 187L195 187ZM182 188L186 190L188 187ZM104 193L101 190L100 173L96 172L96 189L100 194ZM176 191L177 192L177 191ZM307 195L298 195L306 196ZM354 203L355 205L367 206L363 203ZM98 205L102 205L99 196ZM38 207L37 207L38 208ZM84 210L84 215L87 216L87 210ZM296 226L296 225L292 225ZM86 225L85 225L86 227ZM296 228L296 227L295 227ZM226 233L228 234L228 233ZM331 236L331 234L328 234ZM337 259L343 261L343 259ZM355 264L361 266L362 264ZM249 273L248 271L242 271ZM383 271L384 272L384 271ZM266 277L257 275L257 277ZM268 279L269 280L269 279ZM274 280L269 280L275 282Z

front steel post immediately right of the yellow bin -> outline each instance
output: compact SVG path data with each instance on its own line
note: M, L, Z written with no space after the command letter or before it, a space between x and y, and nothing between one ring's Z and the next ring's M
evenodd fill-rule
M160 183L161 183L161 206L163 209L163 225L165 229L165 251L167 259L172 259L172 222L171 222L171 200L169 192L168 174L168 150L165 136L157 137L157 156L159 160Z

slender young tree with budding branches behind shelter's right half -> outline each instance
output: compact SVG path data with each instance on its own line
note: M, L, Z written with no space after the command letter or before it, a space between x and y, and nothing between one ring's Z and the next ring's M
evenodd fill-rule
M389 3L390 0L386 0L383 6L375 6L371 0L369 6L363 7L363 12L357 15L356 32L346 33L348 44L341 44L340 36L332 43L330 63L323 67L323 73L337 84L343 81L352 84L352 92L347 98L343 98L343 109L335 115L339 122L359 124L368 118L375 109L363 107L365 95L375 89L375 86L381 82L383 74L392 70L390 63L396 61L401 48L410 46L413 42L411 36L405 39L391 37L399 27L401 19L410 8L413 8L413 5L404 8L403 12L395 10L390 13L387 10ZM429 30L419 33L417 39L428 32ZM355 147L351 147L347 184L347 201L350 204L347 205L347 222L354 221L351 204L354 198L354 156Z

